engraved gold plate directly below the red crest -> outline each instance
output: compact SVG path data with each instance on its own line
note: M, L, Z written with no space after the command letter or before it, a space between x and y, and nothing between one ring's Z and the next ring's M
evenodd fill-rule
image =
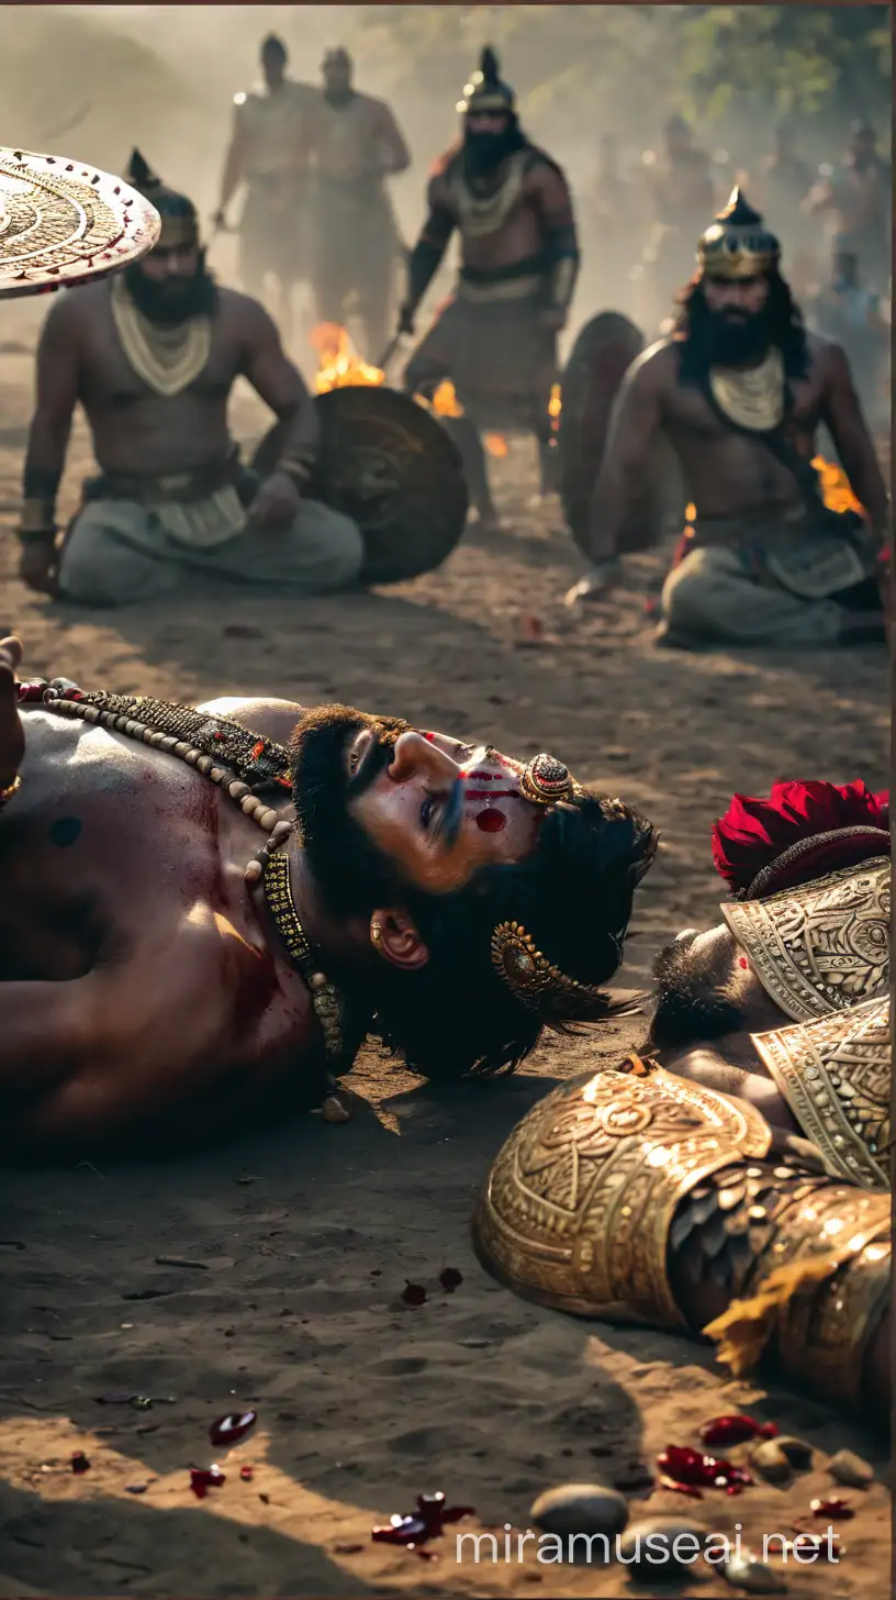
M843 867L722 915L762 987L794 1022L890 989L890 858Z

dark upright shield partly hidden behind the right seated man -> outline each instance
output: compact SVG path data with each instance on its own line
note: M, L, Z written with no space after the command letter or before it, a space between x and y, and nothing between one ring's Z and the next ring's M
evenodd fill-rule
M560 384L560 498L566 525L587 554L594 486L603 461L613 402L629 366L643 350L634 322L619 312L600 312L579 330ZM645 506L632 507L624 547L651 542L643 528ZM635 531L638 530L638 531Z

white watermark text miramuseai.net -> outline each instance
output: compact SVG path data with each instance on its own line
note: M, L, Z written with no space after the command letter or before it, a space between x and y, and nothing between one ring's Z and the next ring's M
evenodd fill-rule
M707 1533L702 1539L696 1533L677 1533L672 1539L666 1533L648 1533L642 1539L638 1534L626 1536L618 1533L613 1539L605 1533L525 1533L514 1530L510 1522L504 1523L504 1547L496 1533L458 1533L454 1534L454 1560L458 1563L472 1560L482 1562L528 1562L534 1557L542 1565L555 1562L576 1562L606 1565L616 1560L621 1566L637 1566L642 1562L650 1566L664 1566L672 1562L675 1566L693 1566L701 1558L712 1566L723 1566L739 1555L746 1555L741 1542L742 1523L734 1523L734 1536L725 1533ZM770 1557L782 1563L795 1562L798 1566L811 1566L813 1562L840 1560L837 1534L832 1526L824 1533L765 1533L762 1546L750 1541L750 1555L758 1555L768 1562Z

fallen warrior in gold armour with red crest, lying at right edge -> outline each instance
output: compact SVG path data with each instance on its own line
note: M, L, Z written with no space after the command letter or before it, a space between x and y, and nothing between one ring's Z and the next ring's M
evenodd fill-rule
M520 1123L477 1250L533 1299L888 1414L888 797L736 797L714 851L723 923L661 954L642 1054Z

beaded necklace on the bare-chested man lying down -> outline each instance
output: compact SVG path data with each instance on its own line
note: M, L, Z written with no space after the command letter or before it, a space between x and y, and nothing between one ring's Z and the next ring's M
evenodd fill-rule
M38 693L40 691L40 693ZM323 1032L323 1043L331 1061L342 1056L342 1000L339 990L318 971L312 947L301 925L290 886L290 864L285 856L272 853L272 843L282 843L291 832L291 824L277 816L274 806L259 797L266 790L291 792L290 752L274 739L262 739L229 717L210 717L194 706L176 701L152 699L147 694L109 694L106 690L78 690L67 678L51 683L21 683L19 699L40 699L48 710L80 722L98 723L110 733L123 733L130 739L176 755L187 766L195 766L203 778L211 779L238 805L245 816L258 822L267 834L267 845L256 856L258 870L246 869L250 882L261 877L267 909L286 952L310 990L310 1002ZM226 763L226 765L222 765ZM238 774L234 776L234 771ZM274 835L274 838L272 838Z

